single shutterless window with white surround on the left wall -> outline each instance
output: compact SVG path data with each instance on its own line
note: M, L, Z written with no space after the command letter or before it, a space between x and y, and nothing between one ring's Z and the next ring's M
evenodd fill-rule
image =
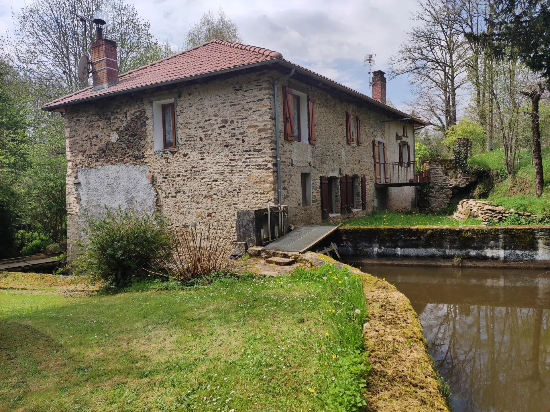
M175 99L152 101L153 106L153 150L174 149L178 145Z

